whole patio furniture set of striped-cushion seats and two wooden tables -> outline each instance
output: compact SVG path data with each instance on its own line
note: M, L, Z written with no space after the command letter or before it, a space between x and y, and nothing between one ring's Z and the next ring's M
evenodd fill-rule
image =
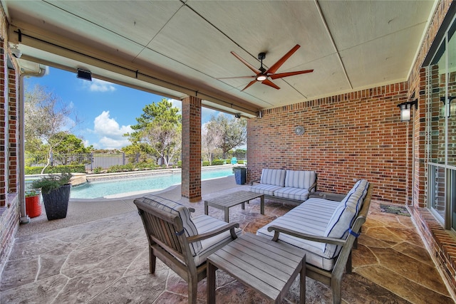
M341 303L341 278L344 271L351 273L351 249L356 248L366 221L372 185L359 180L346 196L333 196L340 201L316 194L309 198L316 189L315 172L264 169L259 185L262 187L252 185L250 192L205 201L205 214L199 216L191 216L191 208L160 196L135 199L149 241L150 273L155 272L155 260L160 258L187 281L189 303L197 302L197 283L206 276L207 303L215 302L217 268L270 303L281 303L298 275L301 303L306 299L306 276L331 285L333 303ZM242 234L239 224L229 224L230 207L242 204L244 209L245 202L260 198L264 214L264 196L276 197L280 189L285 191L279 193L287 193L286 201L300 196L306 199L261 227L256 235ZM209 206L224 210L224 221L207 215Z

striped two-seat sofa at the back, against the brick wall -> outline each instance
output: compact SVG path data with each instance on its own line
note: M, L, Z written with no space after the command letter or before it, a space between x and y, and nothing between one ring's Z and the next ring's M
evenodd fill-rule
M259 184L255 184L259 182ZM263 169L261 178L250 183L250 191L265 198L299 205L316 191L316 172L285 169Z

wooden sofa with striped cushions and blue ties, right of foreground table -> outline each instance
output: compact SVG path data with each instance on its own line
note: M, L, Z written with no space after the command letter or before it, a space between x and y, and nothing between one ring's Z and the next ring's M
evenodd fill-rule
M359 180L341 201L311 197L261 227L257 235L303 248L306 276L331 285L333 303L341 303L343 271L351 273L351 248L366 221L371 196L372 185Z

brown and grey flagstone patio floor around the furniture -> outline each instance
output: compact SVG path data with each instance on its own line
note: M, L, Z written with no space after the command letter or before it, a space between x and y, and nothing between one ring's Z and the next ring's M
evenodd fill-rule
M225 179L212 183L217 187L210 185L206 191L203 184L203 199L245 189ZM176 200L179 192L180 188L160 195ZM187 284L165 264L157 261L155 274L148 273L147 239L140 217L133 199L121 201L120 205L118 201L92 203L102 213L110 206L127 207L82 224L71 221L71 216L78 216L76 208L66 219L55 220L63 228L49 222L53 229L46 229L45 215L36 218L36 224L32 219L21 225L1 273L0 303L187 303ZM196 214L204 213L204 200L184 204L194 207ZM255 199L245 210L232 207L230 221L239 221L243 231L255 233L291 208L266 200L261 215ZM218 209L209 207L209 215L223 219ZM67 221L72 226L66 226ZM34 224L39 229L33 229ZM331 303L328 286L307 278L306 288L307 303ZM342 288L344 303L454 303L410 216L383 213L376 201L353 251L353 273L344 275ZM296 279L283 303L298 300ZM206 303L205 279L198 285L198 303ZM265 301L217 271L217 303Z

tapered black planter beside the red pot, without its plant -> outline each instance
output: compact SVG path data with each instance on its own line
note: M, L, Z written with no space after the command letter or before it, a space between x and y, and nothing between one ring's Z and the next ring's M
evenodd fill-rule
M71 184L66 184L48 194L41 194L43 195L44 208L46 209L46 216L48 216L49 221L66 218L70 190Z

